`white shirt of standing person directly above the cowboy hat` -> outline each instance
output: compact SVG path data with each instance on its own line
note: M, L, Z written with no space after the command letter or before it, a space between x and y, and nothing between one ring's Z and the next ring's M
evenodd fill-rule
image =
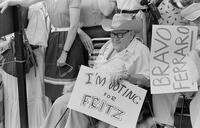
M116 0L117 7L120 10L138 10L145 9L145 6L140 5L141 0Z

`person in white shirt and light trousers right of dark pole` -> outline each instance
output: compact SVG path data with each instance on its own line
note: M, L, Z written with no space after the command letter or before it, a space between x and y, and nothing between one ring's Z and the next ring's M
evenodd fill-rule
M29 43L34 47L38 64L36 74L32 68L26 75L29 128L35 128L42 124L52 105L50 99L45 96L44 86L44 49L47 47L49 29L43 2L29 7L25 32Z

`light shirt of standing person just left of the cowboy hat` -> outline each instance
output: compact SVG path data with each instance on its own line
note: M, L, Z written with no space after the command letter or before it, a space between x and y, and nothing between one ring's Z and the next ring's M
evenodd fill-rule
M101 13L97 0L82 0L80 24L84 27L101 25L104 19Z

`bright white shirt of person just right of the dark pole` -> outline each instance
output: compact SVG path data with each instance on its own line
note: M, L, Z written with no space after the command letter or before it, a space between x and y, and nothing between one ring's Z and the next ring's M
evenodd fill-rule
M42 2L29 7L28 20L26 34L29 43L47 47L49 29L47 25L47 14Z

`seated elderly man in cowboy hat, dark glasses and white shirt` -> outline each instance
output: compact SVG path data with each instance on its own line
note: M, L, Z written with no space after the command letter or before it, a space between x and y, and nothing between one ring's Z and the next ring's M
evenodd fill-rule
M142 29L140 20L115 14L113 20L102 22L103 29L111 31L111 39L101 48L95 68L111 73L113 84L123 79L136 85L149 85L149 50L135 36ZM99 128L113 127L97 122L94 125ZM88 128L90 124L91 117L71 110L65 128Z

